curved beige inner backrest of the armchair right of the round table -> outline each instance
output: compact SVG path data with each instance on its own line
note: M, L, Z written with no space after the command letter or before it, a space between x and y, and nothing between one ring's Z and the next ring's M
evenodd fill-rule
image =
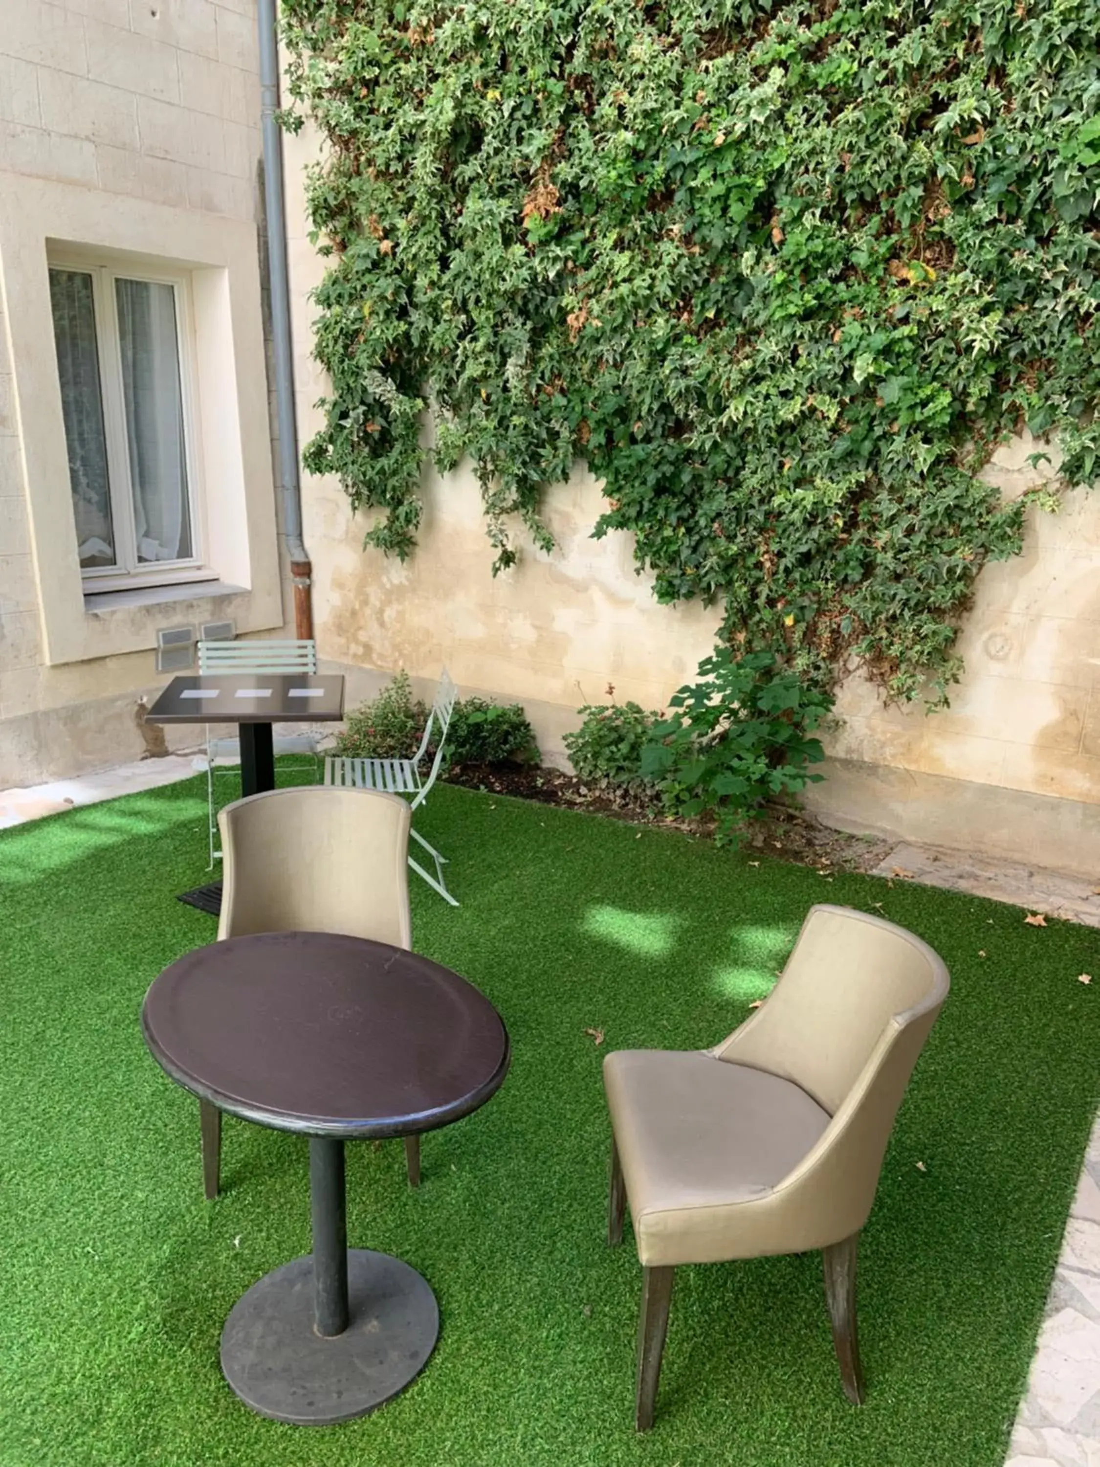
M943 959L914 933L813 907L769 1000L714 1053L793 1080L835 1115L892 1030L931 1028L947 986Z

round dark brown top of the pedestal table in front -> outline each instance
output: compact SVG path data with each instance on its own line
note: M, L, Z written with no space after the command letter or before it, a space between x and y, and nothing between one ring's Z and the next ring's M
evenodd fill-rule
M411 1135L477 1111L509 1065L500 1015L403 948L321 932L230 937L151 984L145 1043L219 1109L311 1135Z

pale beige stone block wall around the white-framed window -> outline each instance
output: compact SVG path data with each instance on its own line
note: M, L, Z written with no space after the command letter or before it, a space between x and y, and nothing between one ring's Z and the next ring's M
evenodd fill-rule
M245 474L249 493L270 518L260 158L255 0L0 0L0 211L10 217L28 191L51 185L56 189L41 208L44 227L59 238L82 238L66 226L78 216L92 217L89 200L107 201L100 214L117 219L116 248L183 254L180 223L192 222L195 239L224 235L226 258L236 251L239 274L249 274L233 301L235 340L227 342L227 352L230 361L235 351L252 356L248 378L258 383L263 421L257 428L252 402L242 430ZM131 242L138 236L142 245ZM242 239L246 266L241 264ZM28 266L9 249L0 258L0 302L22 307L26 289ZM53 445L44 445L41 427L31 422L32 402L23 400L22 418L18 411L10 326L10 310L7 323L0 312L0 788L142 753L138 701L164 681L148 650L157 626L221 615L248 625L251 615L254 629L271 629L282 625L282 607L289 606L279 588L271 522L264 553L274 566L274 590L268 577L263 609L249 612L248 597L197 594L97 613L85 618L84 628L94 654L85 648L81 660L69 660L69 653L60 660L50 656L28 496L44 489L35 465L45 462L43 453ZM41 351L48 352L48 337ZM57 527L57 534L65 535L66 527ZM252 546L252 587L261 574L257 555ZM76 594L79 581L70 590ZM75 644L79 628L70 631L67 641ZM142 650L123 650L133 645ZM194 739L189 731L170 736L173 744Z

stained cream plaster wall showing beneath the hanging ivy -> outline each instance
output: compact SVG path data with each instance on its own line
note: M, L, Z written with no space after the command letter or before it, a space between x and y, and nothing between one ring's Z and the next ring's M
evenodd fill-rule
M323 261L307 239L305 129L287 142L298 415L315 430L324 380L309 359L307 293ZM990 468L1008 494L1035 483L1019 439ZM637 577L625 535L590 538L600 490L578 469L547 494L557 549L527 549L491 578L477 484L468 468L425 474L425 521L406 563L361 549L337 484L307 480L320 651L348 665L521 698L544 753L562 758L575 709L619 700L661 704L711 645L716 610L660 607ZM1028 512L1025 553L987 566L961 637L967 675L947 711L887 709L854 676L830 736L830 778L813 802L837 824L964 845L1068 870L1100 868L1100 494L1066 497L1059 515ZM377 679L356 684L367 689Z

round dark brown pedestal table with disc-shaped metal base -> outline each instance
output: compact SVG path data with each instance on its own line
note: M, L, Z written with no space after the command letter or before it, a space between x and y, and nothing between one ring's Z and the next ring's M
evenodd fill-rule
M424 1369L439 1309L408 1263L348 1248L343 1143L433 1131L484 1105L507 1074L500 1015L402 948L290 932L173 962L145 995L142 1028L186 1090L309 1137L314 1250L233 1306L221 1334L230 1386L279 1422L373 1411Z

